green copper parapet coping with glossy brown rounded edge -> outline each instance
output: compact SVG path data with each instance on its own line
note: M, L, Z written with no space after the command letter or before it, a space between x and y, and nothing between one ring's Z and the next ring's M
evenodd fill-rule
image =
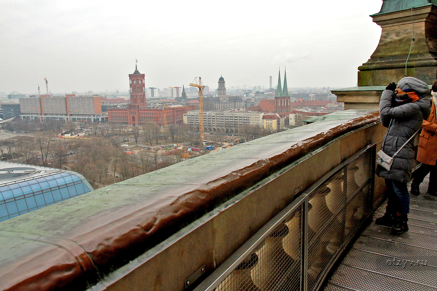
M0 223L0 290L78 291L102 284L102 277L217 205L379 118L364 110L343 114L350 118L272 134Z

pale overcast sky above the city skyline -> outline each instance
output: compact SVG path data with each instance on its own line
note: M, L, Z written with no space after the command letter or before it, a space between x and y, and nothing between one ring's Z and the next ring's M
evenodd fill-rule
M128 90L188 86L201 76L217 88L356 86L357 67L378 45L370 14L382 0L0 2L0 92Z

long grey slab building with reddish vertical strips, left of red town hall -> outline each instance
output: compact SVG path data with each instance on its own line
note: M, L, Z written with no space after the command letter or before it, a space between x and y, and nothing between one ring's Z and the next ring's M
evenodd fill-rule
M39 97L20 98L22 120L64 120L104 123L108 115L102 113L100 95L66 96L41 95Z

